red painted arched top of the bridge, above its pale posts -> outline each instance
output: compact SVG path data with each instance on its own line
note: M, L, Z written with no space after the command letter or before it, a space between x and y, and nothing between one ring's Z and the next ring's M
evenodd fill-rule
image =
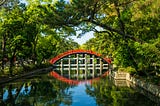
M93 52L93 51L91 51L91 50L80 50L80 49L78 49L78 50L69 50L69 51L67 51L67 52L64 52L64 53L62 53L62 54L60 54L60 55L52 58L52 59L50 60L50 63L51 63L51 64L54 64L54 63L56 63L58 60L64 58L65 56L68 56L68 55L71 55L71 54L78 54L78 53L87 53L87 54L96 55L96 56L98 56L98 57L101 57L101 54L98 54L98 53ZM109 58L103 58L103 59L104 59L108 64L111 64L111 59L109 59Z

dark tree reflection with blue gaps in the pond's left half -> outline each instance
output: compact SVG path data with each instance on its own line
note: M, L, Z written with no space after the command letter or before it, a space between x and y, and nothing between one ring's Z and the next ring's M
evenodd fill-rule
M74 85L72 85L73 87ZM70 85L53 78L36 78L26 83L11 83L0 87L0 106L39 106L61 103L71 105ZM68 98L68 99L66 99Z

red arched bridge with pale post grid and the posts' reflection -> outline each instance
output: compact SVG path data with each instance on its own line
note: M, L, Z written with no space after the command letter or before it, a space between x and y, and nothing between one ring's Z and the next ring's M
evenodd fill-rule
M108 73L111 59L90 50L69 50L50 60L54 72L69 79L89 79ZM53 73L52 73L53 74Z

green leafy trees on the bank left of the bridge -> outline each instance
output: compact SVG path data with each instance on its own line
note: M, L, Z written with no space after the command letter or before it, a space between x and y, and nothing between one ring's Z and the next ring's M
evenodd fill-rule
M28 1L27 5L17 3L12 8L8 6L0 10L0 41L2 42L0 57L1 60L4 57L8 58L8 62L11 63L9 68L11 73L14 70L15 57L16 61L33 60L33 64L40 65L61 52L78 48L77 43L67 38L69 35L75 35L72 27L61 27L60 20L52 24L58 27L51 28L48 24L44 24L46 15L50 17L52 13L52 7L48 7L42 1L34 1L32 4L30 2ZM50 1L43 2L49 3ZM62 2L56 2L52 6L57 6L57 9L60 10L63 5ZM3 61L3 66L5 64L6 62ZM23 66L23 63L21 64Z

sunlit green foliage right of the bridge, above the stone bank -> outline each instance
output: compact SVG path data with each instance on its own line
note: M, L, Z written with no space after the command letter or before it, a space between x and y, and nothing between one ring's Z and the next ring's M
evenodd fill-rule
M131 73L149 76L158 72L155 69L160 60L158 4L156 0L108 1L97 12L104 17L94 18L94 23L103 30L97 31L95 38L83 47L112 57L114 64Z

